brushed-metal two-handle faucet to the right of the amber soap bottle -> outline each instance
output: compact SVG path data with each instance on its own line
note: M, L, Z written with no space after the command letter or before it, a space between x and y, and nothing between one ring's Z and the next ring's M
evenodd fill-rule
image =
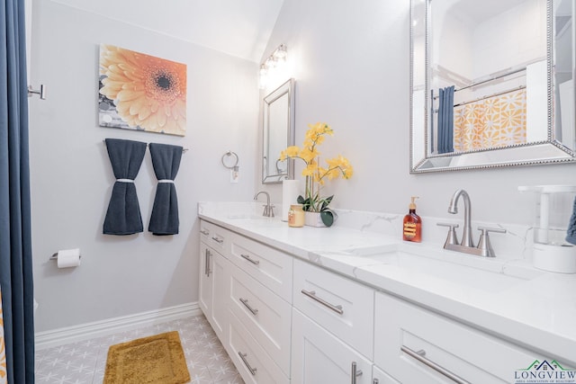
M444 248L451 251L464 252L465 254L494 257L494 249L492 249L488 234L490 232L506 233L506 229L478 227L482 235L480 236L478 246L474 246L472 237L472 204L468 192L458 190L454 193L448 206L448 213L458 213L458 200L460 200L460 196L462 196L464 200L464 229L462 232L462 241L458 242L458 237L456 237L455 228L458 228L458 224L438 223L438 226L449 228Z

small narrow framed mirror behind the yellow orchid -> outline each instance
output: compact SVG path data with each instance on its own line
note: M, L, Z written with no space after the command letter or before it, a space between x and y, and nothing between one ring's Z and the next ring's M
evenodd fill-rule
M264 98L262 183L294 178L294 161L279 161L280 152L294 145L294 79Z

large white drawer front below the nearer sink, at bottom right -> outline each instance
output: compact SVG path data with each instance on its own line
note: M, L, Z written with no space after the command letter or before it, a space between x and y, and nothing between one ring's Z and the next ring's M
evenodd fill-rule
M515 371L542 357L380 292L375 324L374 363L406 383L458 382L439 373L443 370L464 382L509 383ZM436 364L436 369L419 359Z

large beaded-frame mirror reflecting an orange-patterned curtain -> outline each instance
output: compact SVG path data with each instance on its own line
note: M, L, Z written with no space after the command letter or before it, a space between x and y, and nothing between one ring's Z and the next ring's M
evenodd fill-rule
M411 171L573 161L573 13L572 0L413 0Z

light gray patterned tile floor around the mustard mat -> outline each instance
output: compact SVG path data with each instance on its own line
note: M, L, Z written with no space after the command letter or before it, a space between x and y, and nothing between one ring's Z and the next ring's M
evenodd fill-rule
M36 382L102 383L110 345L168 331L178 331L180 334L191 383L244 383L202 315L36 351Z

